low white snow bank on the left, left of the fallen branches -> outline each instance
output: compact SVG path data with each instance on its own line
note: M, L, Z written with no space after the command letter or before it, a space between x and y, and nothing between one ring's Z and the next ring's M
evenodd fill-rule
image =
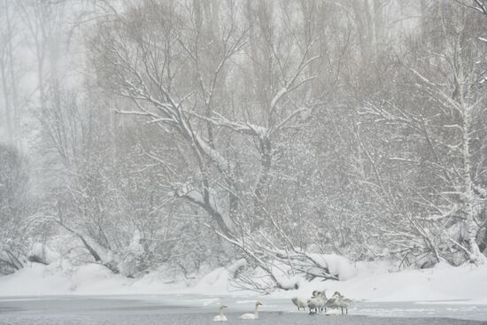
M228 294L228 282L239 260L228 268L219 267L207 275L194 275L192 282L167 282L165 269L130 279L114 275L99 264L73 266L66 260L58 260L45 266L29 263L12 275L0 276L1 296L50 296L50 295L129 295L166 293L219 293ZM232 268L233 267L233 268ZM230 273L228 272L230 270Z

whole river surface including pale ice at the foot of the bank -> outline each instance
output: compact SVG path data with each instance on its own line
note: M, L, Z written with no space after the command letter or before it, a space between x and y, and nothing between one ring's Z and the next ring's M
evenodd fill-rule
M487 324L487 306L457 303L357 302L348 315L298 312L289 299L261 298L262 325L478 325ZM214 324L218 304L228 305L228 324L242 324L253 298L196 295L66 296L0 298L0 324L8 325L197 325Z

